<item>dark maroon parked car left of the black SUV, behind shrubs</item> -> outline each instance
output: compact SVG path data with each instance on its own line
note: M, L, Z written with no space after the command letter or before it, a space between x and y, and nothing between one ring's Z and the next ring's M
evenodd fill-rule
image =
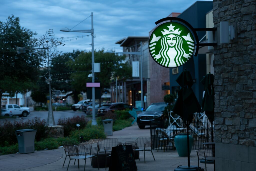
M125 103L104 104L101 106L101 108L98 109L98 116L104 115L108 111L114 112L115 110L125 110L125 109L132 109L132 108L133 108L132 106Z

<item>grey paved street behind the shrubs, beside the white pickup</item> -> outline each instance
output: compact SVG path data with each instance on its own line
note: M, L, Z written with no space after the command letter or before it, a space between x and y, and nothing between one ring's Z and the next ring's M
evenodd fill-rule
M73 116L86 116L86 114L84 112L81 111L72 111L72 110L68 110L68 111L53 111L54 114L54 120L55 123L58 123L58 120L60 118L68 118L68 117L73 117ZM9 118L7 120L14 122L14 120L20 121L27 121L27 120L31 120L34 119L35 117L39 117L41 120L47 120L47 116L48 116L48 111L31 111L30 114L27 117L14 117L14 118ZM90 118L88 118L90 119ZM4 122L5 119L0 119L0 122Z

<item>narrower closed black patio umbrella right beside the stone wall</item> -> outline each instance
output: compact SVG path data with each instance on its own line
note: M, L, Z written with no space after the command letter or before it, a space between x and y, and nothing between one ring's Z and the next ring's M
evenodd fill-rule
M204 84L205 94L202 100L202 110L205 111L206 116L211 122L211 142L213 142L213 128L212 123L214 121L214 75L209 72L206 76L201 80L201 83Z

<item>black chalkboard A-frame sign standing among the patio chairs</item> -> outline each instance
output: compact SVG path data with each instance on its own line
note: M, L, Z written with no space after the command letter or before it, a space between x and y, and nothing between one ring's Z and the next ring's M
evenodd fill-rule
M132 145L112 147L109 171L137 171Z

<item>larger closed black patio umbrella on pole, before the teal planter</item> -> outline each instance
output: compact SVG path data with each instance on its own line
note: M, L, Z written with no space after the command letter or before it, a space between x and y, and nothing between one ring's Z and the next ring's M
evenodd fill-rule
M194 84L193 79L189 71L185 69L176 82L180 85L181 89L178 92L178 98L174 104L173 112L182 117L183 122L186 123L187 127L187 149L188 149L188 166L181 166L175 170L188 170L192 169L190 167L189 158L189 124L193 120L193 113L200 112L201 106L192 90L192 85ZM194 168L194 166L193 166ZM197 168L197 167L196 167Z

